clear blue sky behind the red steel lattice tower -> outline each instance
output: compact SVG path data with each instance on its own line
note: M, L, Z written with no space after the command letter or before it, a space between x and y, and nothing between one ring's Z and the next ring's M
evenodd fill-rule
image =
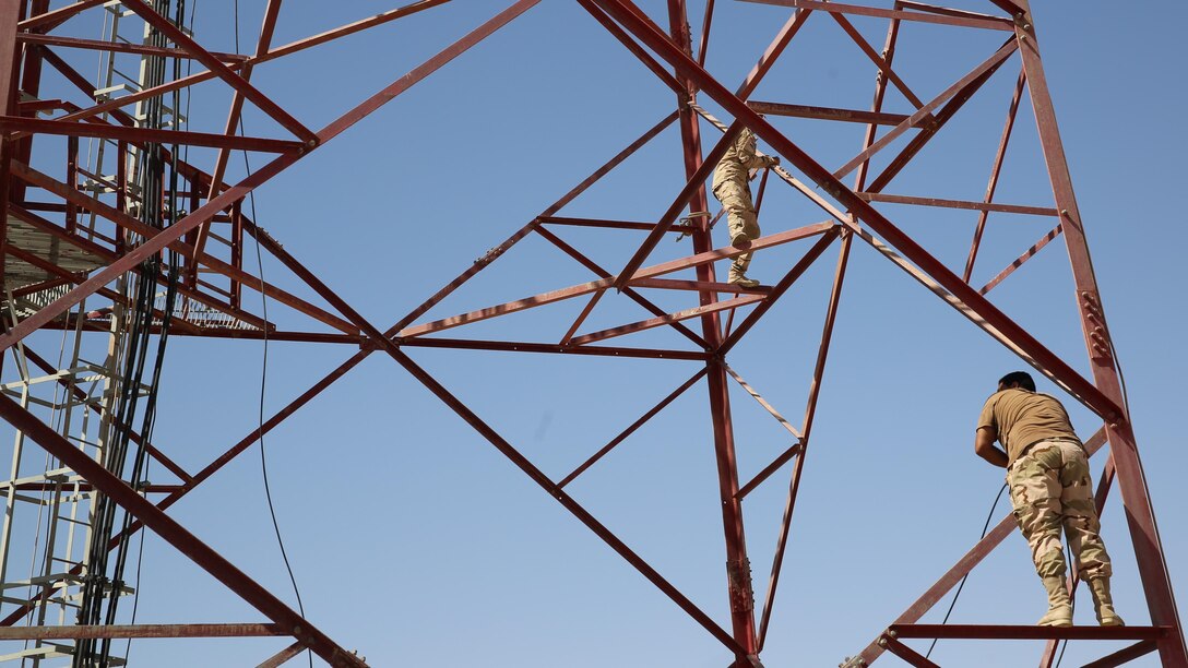
M241 49L247 51L263 2L240 5ZM321 127L503 5L450 4L270 63L253 81L307 125ZM664 5L642 2L658 20ZM993 11L991 4L974 0L953 5ZM1181 156L1188 145L1180 125L1186 99L1183 87L1174 84L1178 80L1165 73L1183 64L1180 27L1188 11L1169 0L1145 2L1125 14L1104 4L1034 5L1167 560L1183 601L1188 489L1181 478L1188 454L1178 411L1188 359L1182 348L1184 282L1177 264L1188 239L1183 214L1163 195L1174 197L1184 177ZM391 6L293 4L283 12L274 43ZM695 31L701 12L702 4L694 2ZM710 71L733 88L789 12L719 2ZM854 21L881 45L884 21ZM209 49L232 50L230 4L201 2L194 30ZM77 33L97 37L97 29L78 21ZM1000 33L971 37L944 27L908 26L897 69L927 101L1001 39ZM1017 57L1009 61L887 191L979 198L1018 67ZM754 99L866 108L873 80L873 67L838 26L815 15ZM228 99L219 83L195 89L190 128L221 131ZM672 105L671 92L576 2L542 2L259 189L258 222L383 329ZM886 111L905 109L901 95L889 96ZM827 166L842 164L860 147L862 126L775 122ZM279 136L254 109L246 124L252 134ZM703 132L716 136L708 126ZM254 166L263 164L260 156L252 159ZM232 174L241 176L238 160ZM669 131L562 215L655 220L682 183L678 137ZM769 188L760 220L766 232L823 220L782 184ZM1004 202L1051 206L1026 106L999 195ZM963 265L974 213L880 208L950 267ZM975 279L992 277L1050 225L1048 219L992 216ZM621 265L642 239L613 231L563 235L612 266ZM757 254L752 275L775 281L801 248L807 246ZM685 251L665 240L655 258ZM836 246L729 359L796 424L835 256ZM309 294L276 263L266 261L264 269L270 281ZM593 278L530 238L423 320ZM1050 348L1086 370L1062 241L991 295ZM658 295L657 301L674 310L694 305L680 295ZM621 302L608 296L587 330L645 317ZM582 303L565 302L456 335L555 341ZM277 305L270 315L284 327L309 326ZM51 338L43 340L50 345ZM687 348L668 332L623 340L652 344ZM268 412L353 352L273 344ZM260 353L258 342L173 339L157 441L192 470L248 433L255 421ZM429 349L410 354L554 479L696 370L695 363L678 361ZM834 666L858 653L977 541L1001 474L973 455L974 420L994 379L1022 366L871 248L854 247L766 666ZM748 479L790 443L750 397L738 387L732 392L740 475ZM1097 429L1087 410L1072 402L1069 408L1085 437ZM712 668L729 662L716 641L381 354L271 434L267 452L273 498L307 611L373 666ZM1095 460L1095 475L1102 461ZM745 506L760 605L789 472L772 478ZM153 481L165 478L154 475ZM569 491L728 628L703 385ZM1116 561L1116 599L1130 623L1145 624L1119 498L1112 494L1104 515L1104 536ZM292 600L267 517L258 452L241 456L171 513ZM939 622L947 603L925 620ZM952 620L1029 624L1043 605L1025 543L1016 534L974 571ZM1091 623L1089 606L1081 607L1078 622ZM1181 611L1188 613L1183 605ZM171 547L157 538L146 542L138 622L258 619ZM146 641L133 647L132 661L254 664L284 644ZM1083 663L1106 654L1107 647L1074 644L1064 664ZM1037 644L1022 642L948 642L934 654L942 664L961 666L1022 664L1037 656ZM892 657L883 662L896 664ZM1156 663L1148 657L1136 664Z

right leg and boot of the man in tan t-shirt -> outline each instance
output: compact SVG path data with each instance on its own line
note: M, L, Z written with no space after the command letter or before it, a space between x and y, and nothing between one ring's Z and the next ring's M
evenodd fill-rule
M1085 450L1076 443L1061 443L1064 464L1060 471L1063 486L1061 504L1064 509L1064 535L1076 559L1076 569L1093 594L1098 623L1104 626L1123 625L1114 612L1110 595L1110 554L1101 540L1101 522L1093 503L1093 480Z

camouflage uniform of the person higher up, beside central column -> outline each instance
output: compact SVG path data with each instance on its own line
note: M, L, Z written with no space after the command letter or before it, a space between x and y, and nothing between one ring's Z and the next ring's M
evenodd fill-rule
M776 162L772 156L756 155L754 133L742 128L714 169L714 196L726 209L732 244L751 241L759 237L759 221L751 202L750 172L752 169L771 166ZM751 266L751 253L738 256L731 265L731 278L742 277L748 266Z

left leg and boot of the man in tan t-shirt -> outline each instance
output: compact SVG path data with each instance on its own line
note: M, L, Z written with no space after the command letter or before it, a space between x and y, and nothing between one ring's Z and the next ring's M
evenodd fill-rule
M1011 465L1007 481L1015 519L1031 548L1036 573L1048 592L1041 625L1068 626L1073 609L1064 584L1064 548L1060 540L1062 458L1055 443L1036 443Z

